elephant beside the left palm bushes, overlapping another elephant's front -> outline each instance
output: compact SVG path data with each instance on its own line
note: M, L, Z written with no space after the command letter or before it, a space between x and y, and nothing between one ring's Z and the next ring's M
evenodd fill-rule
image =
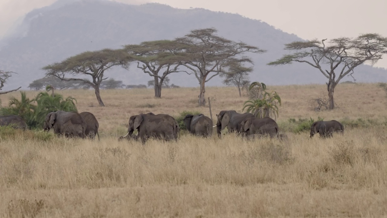
M43 123L43 129L54 129L57 135L85 138L86 122L78 112L50 112Z

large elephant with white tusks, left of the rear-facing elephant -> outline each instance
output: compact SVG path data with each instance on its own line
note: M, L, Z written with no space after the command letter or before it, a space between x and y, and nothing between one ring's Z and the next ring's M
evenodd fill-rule
M133 138L131 135L134 130L138 130L137 137L143 144L150 137L164 140L177 140L179 135L179 125L175 118L168 114L138 114L129 118L128 134L120 137Z

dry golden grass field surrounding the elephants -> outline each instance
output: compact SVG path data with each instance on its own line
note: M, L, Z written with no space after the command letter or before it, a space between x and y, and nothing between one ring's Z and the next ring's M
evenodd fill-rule
M279 126L295 118L346 119L344 135L247 141L232 134L210 139L182 135L178 142L118 142L128 118L140 112L178 116L197 107L199 88L57 91L77 99L79 112L99 121L101 141L0 138L0 217L383 217L387 216L387 113L376 84L340 84L337 109L315 112L308 99L324 85L268 87L283 104ZM33 97L38 92L28 91ZM2 95L6 105L11 95ZM235 88L209 87L212 116L241 112ZM214 131L216 132L216 131ZM45 140L42 140L45 139Z

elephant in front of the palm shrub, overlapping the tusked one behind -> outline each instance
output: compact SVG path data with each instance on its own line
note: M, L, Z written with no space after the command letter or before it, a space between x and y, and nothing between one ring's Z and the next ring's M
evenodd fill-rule
M274 138L278 133L278 125L272 118L247 118L241 122L240 132L245 136L269 135Z

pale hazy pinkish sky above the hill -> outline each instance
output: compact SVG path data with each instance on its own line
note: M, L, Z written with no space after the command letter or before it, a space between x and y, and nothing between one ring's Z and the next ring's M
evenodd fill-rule
M0 0L0 37L16 19L55 0ZM204 8L238 13L262 20L303 39L357 36L380 33L387 36L387 0L116 0L124 3L158 2L172 7ZM387 68L387 56L376 66Z

